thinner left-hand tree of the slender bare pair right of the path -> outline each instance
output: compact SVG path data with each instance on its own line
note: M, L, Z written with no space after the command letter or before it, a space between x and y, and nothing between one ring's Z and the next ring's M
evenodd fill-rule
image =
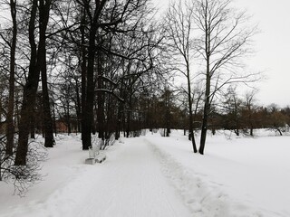
M193 151L198 152L193 133L192 92L190 73L190 52L192 49L193 5L188 1L173 3L165 17L169 52L174 57L174 70L179 71L187 79L189 102L189 140L192 141Z

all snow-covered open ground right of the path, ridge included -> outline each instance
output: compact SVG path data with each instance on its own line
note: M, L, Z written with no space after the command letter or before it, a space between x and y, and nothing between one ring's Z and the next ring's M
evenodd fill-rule
M194 216L290 216L290 137L209 136L206 156L180 134L147 139L176 167L169 178L191 210L201 209Z

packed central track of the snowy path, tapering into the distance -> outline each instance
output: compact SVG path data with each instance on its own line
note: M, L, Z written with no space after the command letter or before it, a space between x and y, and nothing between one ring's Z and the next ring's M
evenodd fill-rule
M127 140L113 158L77 216L190 216L143 139Z

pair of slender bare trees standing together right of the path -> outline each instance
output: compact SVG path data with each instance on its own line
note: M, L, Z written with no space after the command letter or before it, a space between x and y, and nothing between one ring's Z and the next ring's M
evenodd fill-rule
M194 152L197 152L192 133L192 82L203 83L203 109L198 152L203 155L208 121L215 110L218 94L233 83L258 80L255 73L243 69L242 58L251 52L256 26L247 23L247 14L232 8L231 0L178 1L169 5L169 46L176 71L187 78L189 101L189 131ZM173 63L173 64L174 64ZM192 74L190 67L198 68Z

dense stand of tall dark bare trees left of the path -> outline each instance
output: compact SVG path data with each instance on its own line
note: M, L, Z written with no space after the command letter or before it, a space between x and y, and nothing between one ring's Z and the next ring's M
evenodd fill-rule
M167 78L158 64L162 35L149 3L0 2L6 15L0 29L2 165L28 166L35 133L53 147L57 119L69 131L77 125L83 150L92 146L92 134L131 137L144 127L136 102Z

